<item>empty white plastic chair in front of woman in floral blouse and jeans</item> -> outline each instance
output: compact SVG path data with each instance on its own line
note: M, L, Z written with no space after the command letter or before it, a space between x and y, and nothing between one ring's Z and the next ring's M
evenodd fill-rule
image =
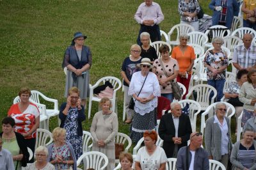
M189 89L188 94L186 95L186 99L189 99L189 97L193 98L193 91L196 93L196 102L198 102L201 105L202 111L205 111L209 105L214 103L214 99L217 96L217 91L214 87L208 85L208 84L198 84L196 86L191 87ZM210 100L210 94L211 92L214 93Z

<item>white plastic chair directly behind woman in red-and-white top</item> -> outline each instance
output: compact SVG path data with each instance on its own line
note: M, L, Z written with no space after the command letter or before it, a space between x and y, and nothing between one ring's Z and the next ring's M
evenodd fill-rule
M17 104L20 102L20 97L17 96L13 100L13 104ZM47 124L48 116L46 115L46 106L44 104L38 104L29 98L29 102L35 104L38 107L40 113L40 125L39 128L44 128L49 130L49 124Z

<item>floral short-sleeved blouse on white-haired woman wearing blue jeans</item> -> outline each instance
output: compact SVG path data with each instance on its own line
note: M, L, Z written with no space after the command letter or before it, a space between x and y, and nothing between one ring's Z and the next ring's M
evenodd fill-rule
M228 58L225 55L225 52L221 49L220 52L214 53L212 50L209 50L204 58L204 63L212 66L215 69L221 68L221 66L228 66ZM226 78L226 70L223 70L221 73L213 75L210 70L207 69L207 80L221 80Z

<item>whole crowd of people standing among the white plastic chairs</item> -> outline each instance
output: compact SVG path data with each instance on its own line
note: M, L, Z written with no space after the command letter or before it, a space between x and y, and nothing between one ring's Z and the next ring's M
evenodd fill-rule
M189 24L198 31L200 8L198 0L179 0L180 23ZM212 24L230 29L239 4L235 0L212 0L209 8L214 11ZM242 11L244 26L255 29L256 24L250 21L256 14L255 1L244 0ZM180 43L172 52L168 45L161 45L161 58L158 58L150 41L161 40L159 24L164 20L161 7L152 0L145 0L134 19L140 24L138 44L131 45L130 54L122 63L121 76L124 79L125 123L131 123L132 143L138 143L142 137L144 142L134 157L130 153L120 153L122 169L166 169L168 158L177 158L177 169L209 169L210 159L221 162L226 169L228 162L236 169L256 169L256 46L252 44L253 36L244 34L243 45L234 49L232 63L237 69L237 77L226 91L223 87L227 52L221 48L223 38L216 36L212 39L213 49L206 52L203 63L207 84L217 90L215 102L219 103L215 106L214 116L207 119L205 134L202 134L192 132L189 116L182 114L179 102L173 101L186 98L191 81L196 55L193 47L188 45L189 36L179 35ZM82 122L86 120L92 66L90 48L84 45L86 38L81 32L75 33L71 45L65 50L62 66L67 67L67 102L60 106L61 124L52 131L53 143L35 148L40 111L35 102L29 100L30 89L21 88L20 102L13 104L2 120L0 169L77 169L77 159L83 154ZM174 98L172 82L176 81L186 88L183 98ZM170 111L161 117L156 132L158 97L167 98L171 104ZM236 108L236 118L243 112L243 139L233 147L227 105L220 102L223 97ZM129 107L132 100L133 108ZM92 151L104 153L108 157L106 169L112 170L115 168L118 117L111 110L108 97L101 98L99 108L90 127ZM159 137L163 147L156 145ZM202 148L203 141L205 149ZM33 152L30 160L27 147Z

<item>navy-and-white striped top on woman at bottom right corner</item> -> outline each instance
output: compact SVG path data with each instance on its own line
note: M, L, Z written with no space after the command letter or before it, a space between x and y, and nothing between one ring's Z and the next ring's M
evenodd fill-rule
M250 167L253 166L253 162L255 160L255 148L254 145L250 146L249 150L245 148L241 143L239 146L239 153L237 157L238 161L241 162L241 164L246 167L247 169L250 169Z

